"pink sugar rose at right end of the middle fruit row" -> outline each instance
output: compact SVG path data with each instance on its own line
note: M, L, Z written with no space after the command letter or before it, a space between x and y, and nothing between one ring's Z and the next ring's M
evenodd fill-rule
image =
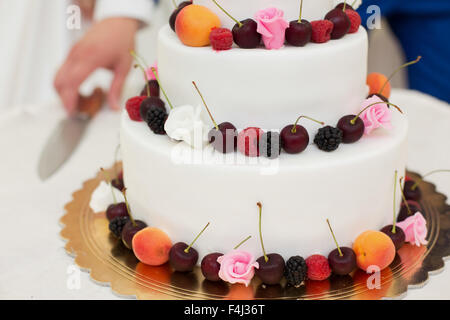
M364 122L365 130L364 134L369 135L373 130L383 127L386 129L391 129L391 119L392 114L391 110L389 110L388 105L384 103L383 100L381 100L377 96L373 96L371 98L366 99L363 102L362 108L364 109L371 104L377 103L371 107L369 107L366 111L364 111L360 118Z

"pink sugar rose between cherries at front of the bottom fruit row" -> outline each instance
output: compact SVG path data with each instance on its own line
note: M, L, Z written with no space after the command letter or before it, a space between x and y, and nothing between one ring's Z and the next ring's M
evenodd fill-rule
M229 283L243 283L248 287L255 275L255 269L259 268L258 262L251 253L233 250L219 258L219 277Z

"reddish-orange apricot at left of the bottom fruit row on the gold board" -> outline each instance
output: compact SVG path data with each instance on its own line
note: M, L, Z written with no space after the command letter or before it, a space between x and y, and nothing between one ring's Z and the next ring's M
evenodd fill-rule
M149 266L160 266L169 261L172 241L162 230L147 227L133 237L133 252L136 258Z

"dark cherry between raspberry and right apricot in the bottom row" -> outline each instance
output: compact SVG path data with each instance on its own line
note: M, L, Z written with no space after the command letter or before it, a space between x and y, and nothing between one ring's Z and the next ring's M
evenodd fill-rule
M330 228L331 235L333 236L336 249L330 252L328 255L328 263L331 270L337 275L346 275L351 273L356 268L356 254L348 247L339 247L339 244L331 228L330 221L327 219L328 227Z

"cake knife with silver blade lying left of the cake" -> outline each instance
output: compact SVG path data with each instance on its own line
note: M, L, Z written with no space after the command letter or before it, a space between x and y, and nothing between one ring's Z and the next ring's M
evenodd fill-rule
M88 97L80 95L77 114L61 120L41 152L38 174L42 181L51 177L67 162L83 139L91 119L101 109L103 100L104 93L100 88L96 88Z

